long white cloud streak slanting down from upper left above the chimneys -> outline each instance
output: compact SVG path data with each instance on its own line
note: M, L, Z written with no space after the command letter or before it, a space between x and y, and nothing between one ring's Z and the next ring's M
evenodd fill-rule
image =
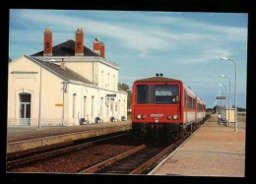
M114 38L119 41L120 45L139 50L142 55L149 50L160 49L160 45L166 46L168 44L163 38L152 36L151 33L145 33L136 28L125 28L109 22L93 21L88 18L74 18L41 11L24 11L20 16L29 22L36 22L36 24L54 25L61 31L83 27L87 33Z

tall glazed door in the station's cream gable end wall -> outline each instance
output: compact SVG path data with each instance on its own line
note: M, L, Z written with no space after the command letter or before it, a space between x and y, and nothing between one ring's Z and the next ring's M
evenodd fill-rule
M20 93L20 125L31 125L32 94Z

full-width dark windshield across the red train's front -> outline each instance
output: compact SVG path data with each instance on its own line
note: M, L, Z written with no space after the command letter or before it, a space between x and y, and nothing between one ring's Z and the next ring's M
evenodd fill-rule
M178 103L177 85L138 85L137 103Z

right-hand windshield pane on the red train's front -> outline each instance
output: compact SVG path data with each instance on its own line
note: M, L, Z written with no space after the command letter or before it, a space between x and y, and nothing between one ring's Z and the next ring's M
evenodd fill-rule
M178 86L155 86L155 102L156 103L177 103L178 102Z

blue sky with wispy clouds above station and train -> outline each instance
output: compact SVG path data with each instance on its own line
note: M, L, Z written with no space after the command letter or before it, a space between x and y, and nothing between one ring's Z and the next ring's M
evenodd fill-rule
M163 77L182 80L207 107L224 105L217 95L228 94L234 104L236 62L238 106L246 107L246 13L10 10L9 56L15 60L43 49L43 31L50 28L53 45L75 40L83 28L85 46L93 49L99 37L105 58L120 66L119 83L132 89L139 79ZM224 86L220 86L223 84Z

